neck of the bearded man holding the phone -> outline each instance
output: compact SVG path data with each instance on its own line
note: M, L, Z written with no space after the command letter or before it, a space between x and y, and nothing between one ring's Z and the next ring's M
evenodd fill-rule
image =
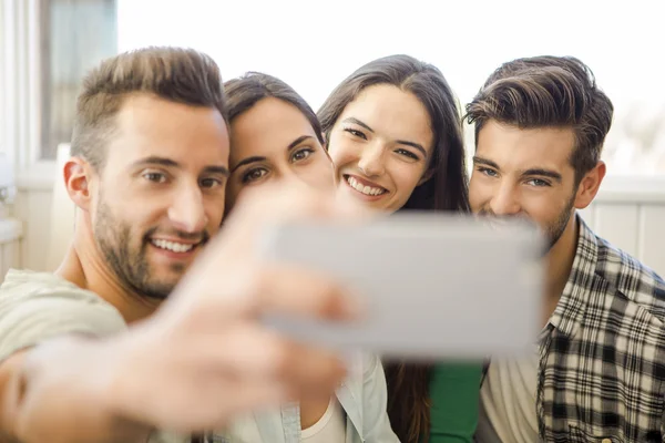
M100 254L89 220L79 217L74 239L55 274L95 292L115 307L127 323L152 315L161 300L150 299L121 284Z

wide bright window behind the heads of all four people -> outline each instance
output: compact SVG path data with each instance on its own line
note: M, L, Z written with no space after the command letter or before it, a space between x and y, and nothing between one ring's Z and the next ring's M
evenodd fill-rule
M586 62L615 104L608 174L665 175L665 69L653 49L665 28L648 0L630 8L579 0L30 1L40 6L42 158L70 140L81 78L117 51L196 48L225 79L249 70L277 75L315 110L351 71L390 53L439 66L462 104L500 63L550 53Z

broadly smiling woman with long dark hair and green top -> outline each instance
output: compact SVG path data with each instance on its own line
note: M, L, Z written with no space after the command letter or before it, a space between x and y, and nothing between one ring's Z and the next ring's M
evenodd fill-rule
M469 212L459 105L436 66L408 55L375 60L332 91L318 117L340 197L389 213ZM481 362L387 364L400 440L471 442L481 373Z

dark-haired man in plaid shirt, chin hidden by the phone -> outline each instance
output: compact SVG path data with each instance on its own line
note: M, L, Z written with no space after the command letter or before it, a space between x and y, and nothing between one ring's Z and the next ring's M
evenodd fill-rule
M610 99L580 60L535 56L501 65L467 112L472 209L549 238L539 344L490 362L478 441L663 441L665 282L576 214L605 176Z

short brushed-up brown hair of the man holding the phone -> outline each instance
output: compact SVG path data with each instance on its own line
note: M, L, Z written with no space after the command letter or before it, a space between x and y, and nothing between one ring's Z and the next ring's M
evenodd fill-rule
M192 49L146 48L104 60L83 79L76 101L72 155L103 167L105 146L124 97L154 94L192 106L216 107L226 120L219 68Z

